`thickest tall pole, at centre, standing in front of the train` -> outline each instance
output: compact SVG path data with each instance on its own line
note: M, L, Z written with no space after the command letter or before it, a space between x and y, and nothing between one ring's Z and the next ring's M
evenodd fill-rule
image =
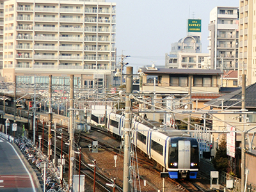
M129 94L132 93L132 73L133 67L126 68L126 96L125 96L125 132L124 132L124 184L123 191L129 192L131 187L129 183L130 158L129 158L129 141L130 141L130 123L131 123L131 100Z

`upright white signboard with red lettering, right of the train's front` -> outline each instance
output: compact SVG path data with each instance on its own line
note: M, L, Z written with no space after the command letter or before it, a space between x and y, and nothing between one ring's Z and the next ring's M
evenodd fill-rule
M232 131L227 134L227 155L235 158L236 153L236 128L227 125L227 131Z

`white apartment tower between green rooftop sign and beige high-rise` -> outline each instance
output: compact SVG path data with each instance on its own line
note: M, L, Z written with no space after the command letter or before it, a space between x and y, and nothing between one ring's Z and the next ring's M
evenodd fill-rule
M209 54L211 68L237 70L238 68L238 9L216 6L210 12Z

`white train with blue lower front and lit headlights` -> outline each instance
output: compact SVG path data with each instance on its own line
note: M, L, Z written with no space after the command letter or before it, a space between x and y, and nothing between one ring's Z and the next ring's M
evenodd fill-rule
M107 129L115 136L122 137L125 116L109 113ZM132 120L134 145L154 163L161 165L172 179L196 179L199 169L198 141L186 132L168 128L166 132L152 131L150 124L145 125ZM145 131L144 131L145 130Z

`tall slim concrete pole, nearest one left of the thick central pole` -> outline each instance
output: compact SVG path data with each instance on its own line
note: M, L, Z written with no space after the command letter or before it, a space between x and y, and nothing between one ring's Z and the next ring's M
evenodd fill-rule
M74 120L74 75L70 75L70 116L69 116L69 141L70 141L70 159L69 159L69 188L73 191L73 161L74 161L74 152L73 152L73 145L74 145L74 127L73 127L73 120Z

